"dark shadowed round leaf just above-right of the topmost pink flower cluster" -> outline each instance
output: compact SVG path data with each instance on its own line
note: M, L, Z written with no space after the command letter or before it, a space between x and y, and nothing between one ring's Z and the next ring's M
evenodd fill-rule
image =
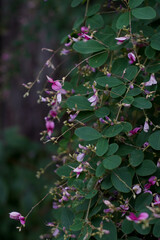
M99 14L87 18L87 26L90 26L91 29L101 28L104 25L103 17Z

